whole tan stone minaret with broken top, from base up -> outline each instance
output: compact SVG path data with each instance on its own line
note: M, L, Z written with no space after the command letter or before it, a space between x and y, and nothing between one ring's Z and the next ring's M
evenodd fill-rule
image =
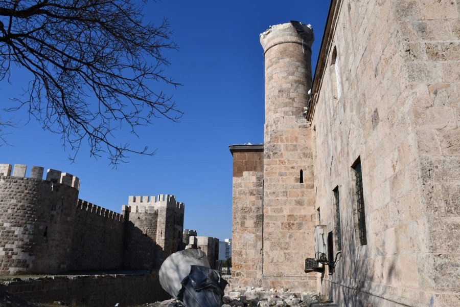
M311 128L303 116L311 88L313 30L297 21L260 35L265 58L262 286L315 289Z

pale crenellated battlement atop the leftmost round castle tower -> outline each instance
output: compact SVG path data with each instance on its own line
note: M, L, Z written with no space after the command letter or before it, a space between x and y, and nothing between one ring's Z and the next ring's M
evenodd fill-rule
M14 164L14 167L11 164L0 164L0 176L27 178L26 171L26 164ZM80 179L70 173L49 168L46 179L43 179L43 172L43 167L33 165L28 178L52 181L80 190Z

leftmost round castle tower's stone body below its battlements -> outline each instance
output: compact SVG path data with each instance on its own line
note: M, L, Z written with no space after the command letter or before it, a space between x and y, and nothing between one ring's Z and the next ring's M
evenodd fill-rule
M0 177L0 271L68 271L77 199L65 184Z

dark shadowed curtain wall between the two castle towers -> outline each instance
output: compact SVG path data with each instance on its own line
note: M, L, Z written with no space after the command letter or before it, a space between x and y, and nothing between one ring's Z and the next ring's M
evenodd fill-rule
M78 200L71 271L119 269L123 265L123 215Z

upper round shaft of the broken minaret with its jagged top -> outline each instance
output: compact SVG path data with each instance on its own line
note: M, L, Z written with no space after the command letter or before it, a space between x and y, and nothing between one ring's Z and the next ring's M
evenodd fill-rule
M283 124L302 116L311 89L313 30L298 21L260 35L265 57L265 142Z

